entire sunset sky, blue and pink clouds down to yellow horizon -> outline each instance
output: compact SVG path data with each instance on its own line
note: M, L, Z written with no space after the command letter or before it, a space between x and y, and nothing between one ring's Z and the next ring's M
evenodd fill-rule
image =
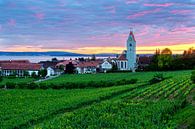
M137 53L195 47L195 0L0 0L0 51Z

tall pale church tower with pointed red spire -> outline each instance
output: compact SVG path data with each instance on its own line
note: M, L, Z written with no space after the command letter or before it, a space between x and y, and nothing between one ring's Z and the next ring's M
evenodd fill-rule
M133 35L133 31L130 30L129 37L127 39L127 68L135 72L137 63L136 63L136 41Z

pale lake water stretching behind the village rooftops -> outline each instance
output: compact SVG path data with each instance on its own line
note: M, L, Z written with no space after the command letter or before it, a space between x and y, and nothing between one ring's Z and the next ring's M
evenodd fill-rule
M75 59L80 57L79 56L77 57L75 56L0 56L0 60L29 60L30 62L38 63L40 61L51 60L52 58L57 58L58 60L69 60L69 59ZM97 57L97 58L107 58L107 57Z

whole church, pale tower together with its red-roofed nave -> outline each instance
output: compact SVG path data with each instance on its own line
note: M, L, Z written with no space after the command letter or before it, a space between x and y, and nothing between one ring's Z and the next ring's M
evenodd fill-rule
M130 31L127 39L127 50L124 50L122 54L116 60L116 64L119 70L131 70L135 72L137 67L136 62L136 40L133 31Z

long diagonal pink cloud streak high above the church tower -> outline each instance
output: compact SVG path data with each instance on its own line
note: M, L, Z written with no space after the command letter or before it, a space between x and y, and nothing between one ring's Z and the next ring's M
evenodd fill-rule
M157 9L154 9L154 10L141 11L141 12L138 12L138 13L136 13L136 14L129 15L127 18L128 18L128 19L134 19L134 18L137 18L137 17L144 16L144 15L146 15L146 14L157 13L157 12L159 12L160 10L161 10L160 8L157 8Z

